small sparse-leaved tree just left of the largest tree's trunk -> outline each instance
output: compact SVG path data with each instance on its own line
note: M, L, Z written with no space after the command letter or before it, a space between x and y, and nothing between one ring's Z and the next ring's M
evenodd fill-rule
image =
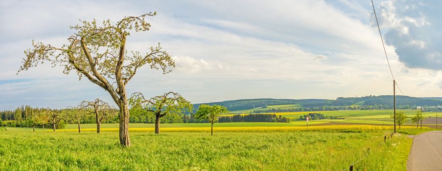
M95 99L94 101L88 102L83 101L80 104L82 109L90 108L92 109L92 113L95 114L95 123L97 124L97 133L101 131L101 122L105 120L107 117L112 116L112 113L115 111L115 108L110 106L108 103L101 101L100 99ZM114 115L115 116L115 115Z

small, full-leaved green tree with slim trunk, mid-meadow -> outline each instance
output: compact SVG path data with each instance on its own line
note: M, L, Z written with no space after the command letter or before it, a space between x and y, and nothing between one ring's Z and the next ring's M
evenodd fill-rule
M218 122L219 116L224 113L228 113L229 110L227 110L224 106L218 106L218 105L200 105L198 107L198 110L193 115L195 119L203 120L207 119L209 123L211 124L210 134L213 135L213 124Z

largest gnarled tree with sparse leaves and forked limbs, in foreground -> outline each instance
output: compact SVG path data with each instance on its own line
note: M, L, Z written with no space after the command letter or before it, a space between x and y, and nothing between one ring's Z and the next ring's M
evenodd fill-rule
M170 72L168 66L175 66L172 58L158 46L148 48L145 55L139 51L126 50L127 37L133 31L147 31L150 28L145 18L155 16L147 13L138 17L125 17L111 23L103 21L82 21L72 26L76 32L69 37L68 44L54 47L50 44L32 41L33 48L26 50L20 71L43 62L64 67L63 73L76 71L79 79L86 77L92 83L106 90L119 107L119 140L122 146L130 146L129 108L126 85L135 76L138 68L148 64L152 69ZM116 83L116 84L114 84Z

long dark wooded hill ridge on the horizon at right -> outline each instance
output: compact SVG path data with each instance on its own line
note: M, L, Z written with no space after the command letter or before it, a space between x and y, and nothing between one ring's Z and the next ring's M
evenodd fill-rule
M396 108L414 109L419 106L431 111L442 110L441 98L418 98L410 96L396 96ZM233 113L261 113L261 112L294 112L319 110L349 110L349 109L392 109L393 96L365 96L365 97L338 97L336 100L326 99L242 99L223 102L204 103L208 105L222 105ZM195 109L201 104L195 104Z

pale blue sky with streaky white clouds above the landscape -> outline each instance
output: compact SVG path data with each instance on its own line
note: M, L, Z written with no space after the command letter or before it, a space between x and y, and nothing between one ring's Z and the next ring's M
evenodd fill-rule
M442 1L374 0L399 95L442 96ZM174 91L192 103L250 98L336 99L393 93L370 0L1 0L0 110L64 108L110 95L62 67L20 68L32 40L61 46L80 21L148 12L126 49L161 43L169 74L141 68L128 94Z

